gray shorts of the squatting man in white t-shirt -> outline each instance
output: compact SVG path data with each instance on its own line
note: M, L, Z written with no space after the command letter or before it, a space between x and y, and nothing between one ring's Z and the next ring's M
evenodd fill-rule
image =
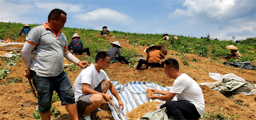
M102 93L102 89L101 89L101 84L99 84L94 90L96 90L97 92L101 92ZM78 100L76 101L76 107L77 107L77 112L79 114L82 114L85 110L85 108L87 106L90 106L91 102L90 102L90 97L93 94L90 95L81 95L78 97Z

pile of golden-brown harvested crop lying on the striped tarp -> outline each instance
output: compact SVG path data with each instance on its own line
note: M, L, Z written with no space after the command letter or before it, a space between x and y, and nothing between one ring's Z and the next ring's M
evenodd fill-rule
M138 106L136 109L133 109L131 112L126 114L126 116L129 117L129 120L137 120L138 118L142 117L145 113L149 111L157 110L157 106L159 106L159 104L163 104L163 103L160 103L160 102L143 103L142 105Z

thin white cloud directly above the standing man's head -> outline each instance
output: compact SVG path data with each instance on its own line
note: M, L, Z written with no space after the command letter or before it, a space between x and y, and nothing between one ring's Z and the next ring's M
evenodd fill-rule
M48 11L53 10L54 8L62 9L63 11L68 11L70 13L78 13L84 11L82 8L83 4L71 4L63 2L35 2L35 5L41 9L47 9Z

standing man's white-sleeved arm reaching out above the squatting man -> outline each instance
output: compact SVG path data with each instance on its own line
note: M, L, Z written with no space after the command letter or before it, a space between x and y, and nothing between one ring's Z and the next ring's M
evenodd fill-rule
M64 57L68 60L71 61L74 64L77 64L78 66L80 66L81 68L85 68L87 66L89 66L90 64L88 64L87 61L80 61L79 59L77 59L75 56L73 56L69 51L68 48L65 47L64 48Z

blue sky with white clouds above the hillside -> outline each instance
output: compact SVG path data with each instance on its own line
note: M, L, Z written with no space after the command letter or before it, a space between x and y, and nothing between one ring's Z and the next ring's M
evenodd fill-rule
M256 0L0 0L0 22L43 24L67 13L65 27L173 34L220 40L256 37Z

